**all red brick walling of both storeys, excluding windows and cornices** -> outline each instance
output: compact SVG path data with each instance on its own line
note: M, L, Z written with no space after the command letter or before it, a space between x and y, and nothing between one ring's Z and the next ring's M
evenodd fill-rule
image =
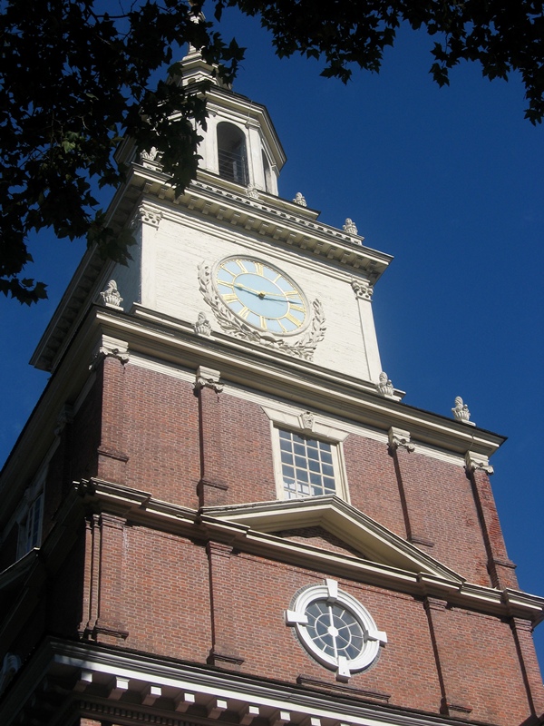
M276 499L270 423L257 403L105 358L60 437L45 486L44 537L60 536L69 478L111 482L118 498L97 498L92 486L80 495L70 554L56 554L61 562L48 583L34 584L21 629L10 643L4 633L6 651L24 660L54 635L478 723L510 726L542 710L529 621L460 607L446 593L414 595L337 577L388 639L377 661L341 687L284 614L301 588L334 572L308 569L279 550L244 551L198 515L176 525L180 510ZM469 583L515 586L487 475L363 433L345 439L344 456L355 509ZM121 502L137 496L131 492L141 493L141 515ZM145 515L150 495L176 509L173 520ZM5 550L13 537L7 533ZM275 537L361 556L322 526L278 525Z

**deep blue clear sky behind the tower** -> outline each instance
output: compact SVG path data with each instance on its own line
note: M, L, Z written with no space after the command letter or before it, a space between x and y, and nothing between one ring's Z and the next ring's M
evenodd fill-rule
M301 191L336 227L351 217L395 258L374 316L404 401L449 416L461 396L478 426L509 437L491 485L520 587L544 595L544 128L524 120L519 79L463 65L439 89L432 41L406 31L379 75L355 71L345 86L316 61L279 61L255 21L226 21L248 46L235 90L267 105L287 152L281 196ZM46 383L27 361L83 249L43 235L33 251L50 300L0 299L0 461ZM544 664L544 624L536 642Z

